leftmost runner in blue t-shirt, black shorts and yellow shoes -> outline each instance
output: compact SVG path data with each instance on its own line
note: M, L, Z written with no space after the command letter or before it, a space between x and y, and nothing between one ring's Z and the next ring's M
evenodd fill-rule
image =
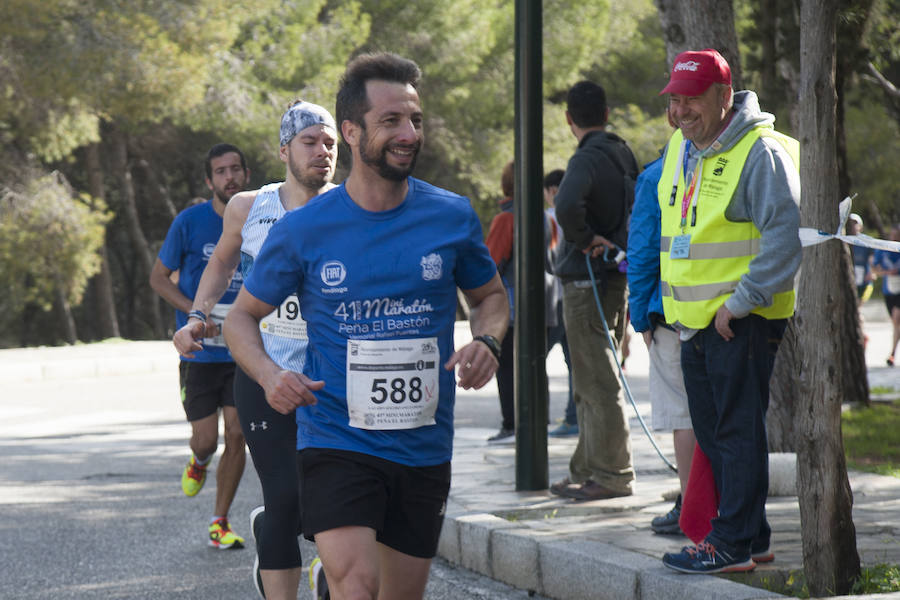
M231 144L213 146L206 157L206 185L213 192L208 202L182 211L166 234L159 257L150 273L150 285L175 308L175 324L182 327L200 276L219 236L222 214L233 195L244 189L250 176L244 155ZM178 271L178 283L172 273ZM179 374L185 415L191 424L191 458L181 475L181 488L195 496L206 482L206 469L219 441L219 408L225 425L225 450L216 469L216 501L209 524L209 544L216 548L242 548L243 538L228 524L228 510L237 492L246 461L244 436L234 407L234 360L225 347L218 324L241 287L240 274L230 281L222 299L209 311L202 350L181 357ZM204 320L206 316L203 315Z

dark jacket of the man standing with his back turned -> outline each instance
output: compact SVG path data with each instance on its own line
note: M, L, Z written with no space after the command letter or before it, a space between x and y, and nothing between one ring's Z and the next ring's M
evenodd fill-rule
M616 134L592 131L581 139L556 194L556 219L564 239L554 273L562 280L589 279L582 249L594 235L626 248L638 172L634 154ZM602 257L592 264L598 275L616 268L614 262L604 263Z

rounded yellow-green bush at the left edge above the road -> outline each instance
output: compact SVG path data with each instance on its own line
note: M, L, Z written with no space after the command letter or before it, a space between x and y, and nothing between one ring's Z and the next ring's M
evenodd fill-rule
M88 207L58 173L0 191L0 307L16 314L26 304L50 310L57 291L81 302L100 268L98 250L109 216Z

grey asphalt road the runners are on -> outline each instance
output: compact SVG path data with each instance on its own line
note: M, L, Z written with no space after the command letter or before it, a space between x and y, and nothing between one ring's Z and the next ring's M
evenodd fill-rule
M257 597L254 550L206 545L211 481L194 498L181 492L189 428L177 372L2 387L0 598ZM555 395L551 414L559 416L564 396ZM499 426L493 386L461 399L458 410L461 422ZM246 518L261 497L248 458L231 513L248 543ZM308 564L314 546L304 542L302 552ZM298 597L310 597L305 585ZM528 595L436 560L426 597Z

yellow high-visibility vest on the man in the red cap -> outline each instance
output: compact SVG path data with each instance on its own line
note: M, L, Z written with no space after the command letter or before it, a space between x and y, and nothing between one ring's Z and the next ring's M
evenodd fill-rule
M702 165L697 165L700 178L694 191L695 221L692 206L688 206L685 219L682 219L685 177L679 164L679 149L683 142L681 130L669 140L657 188L662 213L660 291L668 323L678 322L692 329L709 325L719 307L734 292L741 276L749 270L750 261L759 253L762 236L756 226L750 221L729 221L725 218L725 209L737 188L750 148L760 136L777 139L794 160L794 165L800 164L797 140L769 127L750 130L727 152L705 158ZM679 173L677 187L673 185L676 172ZM674 205L670 204L672 198ZM787 285L787 289L777 291L770 306L760 306L751 312L767 319L793 315L793 282Z

